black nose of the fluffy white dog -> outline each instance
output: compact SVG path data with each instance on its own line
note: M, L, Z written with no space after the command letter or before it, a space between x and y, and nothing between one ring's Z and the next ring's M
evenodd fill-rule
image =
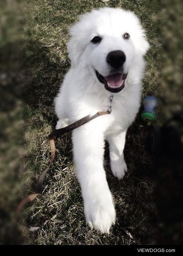
M126 56L123 51L111 51L107 55L107 63L111 65L113 68L119 68L123 66L124 62L126 61Z

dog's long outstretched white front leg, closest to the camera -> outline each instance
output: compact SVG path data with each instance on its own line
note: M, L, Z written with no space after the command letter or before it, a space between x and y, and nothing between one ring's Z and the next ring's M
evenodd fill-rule
M116 213L103 168L103 133L87 124L87 127L85 125L74 130L72 138L86 222L91 228L108 233L115 223Z

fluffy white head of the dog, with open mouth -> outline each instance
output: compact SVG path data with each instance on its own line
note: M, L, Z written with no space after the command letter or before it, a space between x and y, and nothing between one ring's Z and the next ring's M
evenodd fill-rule
M70 35L72 67L88 67L113 93L124 88L132 62L138 65L149 48L137 16L120 8L101 8L82 15Z

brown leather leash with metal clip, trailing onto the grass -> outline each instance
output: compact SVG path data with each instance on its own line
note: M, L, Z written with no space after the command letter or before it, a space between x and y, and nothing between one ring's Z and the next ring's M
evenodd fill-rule
M112 97L112 96L111 96ZM112 98L111 98L111 102L112 102ZM15 212L15 218L18 219L19 214L23 208L23 206L25 206L28 202L33 201L39 194L41 194L41 190L42 190L42 184L44 182L44 178L46 176L46 173L49 170L49 167L51 166L51 164L53 163L54 159L55 159L55 141L54 141L54 137L56 135L62 135L64 133L67 133L68 131L72 131L82 125L84 125L85 123L90 122L91 120L97 118L98 116L102 116L102 115L107 115L111 113L111 106L108 106L109 109L105 112L97 112L95 115L90 116L87 115L81 119L79 119L78 121L72 123L71 125L68 125L66 127L63 127L61 129L55 129L52 131L51 134L49 134L48 138L49 138L49 143L50 143L50 148L51 148L51 160L49 162L48 167L44 170L44 172L42 172L40 179L38 180L37 184L36 184L36 188L35 188L35 193L26 196L25 198L22 199L22 201L19 203L16 212Z

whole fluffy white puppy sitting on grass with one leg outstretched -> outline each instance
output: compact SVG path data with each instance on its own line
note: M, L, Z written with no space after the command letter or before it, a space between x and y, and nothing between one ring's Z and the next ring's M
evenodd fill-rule
M136 15L120 8L100 8L82 15L71 27L70 36L71 67L55 98L56 129L106 111L113 95L111 114L72 132L86 221L91 228L109 232L116 212L103 167L104 140L109 143L112 173L123 179L126 131L140 106L143 56L149 43Z

